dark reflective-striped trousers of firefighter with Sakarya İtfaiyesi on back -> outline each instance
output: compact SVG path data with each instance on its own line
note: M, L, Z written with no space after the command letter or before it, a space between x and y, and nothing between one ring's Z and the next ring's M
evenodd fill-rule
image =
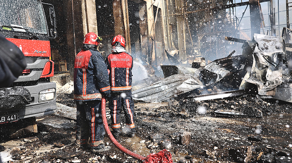
M120 115L123 109L126 118L127 134L135 134L134 125L134 102L132 99L132 92L111 92L109 99L109 109L111 110L111 127L114 135L121 133Z

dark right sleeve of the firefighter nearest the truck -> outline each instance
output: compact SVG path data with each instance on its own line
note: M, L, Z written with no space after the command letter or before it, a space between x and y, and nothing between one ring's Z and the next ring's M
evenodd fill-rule
M91 50L90 50L91 51ZM95 75L97 78L96 84L100 89L100 92L105 98L111 97L109 75L105 65L105 61L98 51L91 51L92 63L95 69Z

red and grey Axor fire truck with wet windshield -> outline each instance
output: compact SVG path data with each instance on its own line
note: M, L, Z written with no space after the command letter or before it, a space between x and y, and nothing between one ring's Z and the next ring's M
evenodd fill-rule
M0 4L0 34L17 45L27 61L12 87L25 87L31 96L23 108L0 110L1 124L54 113L56 83L50 82L54 63L49 41L57 35L54 7L40 0L0 0Z

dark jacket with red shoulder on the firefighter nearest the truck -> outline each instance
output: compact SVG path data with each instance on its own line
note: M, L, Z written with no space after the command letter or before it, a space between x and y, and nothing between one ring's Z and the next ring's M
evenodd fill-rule
M100 100L101 93L110 97L108 71L103 57L95 49L81 50L74 64L75 101Z

